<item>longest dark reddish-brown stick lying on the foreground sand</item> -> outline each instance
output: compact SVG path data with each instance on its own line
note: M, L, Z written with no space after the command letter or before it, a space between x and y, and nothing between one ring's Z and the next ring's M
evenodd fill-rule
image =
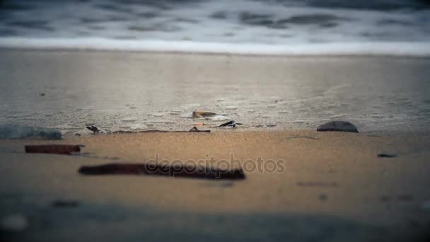
M155 163L109 163L100 166L81 166L82 175L164 175L171 178L200 178L213 180L243 180L242 168L223 170L202 166L170 166Z

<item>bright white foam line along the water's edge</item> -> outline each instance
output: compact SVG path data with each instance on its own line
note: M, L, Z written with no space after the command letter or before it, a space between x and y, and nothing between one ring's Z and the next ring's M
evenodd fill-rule
M275 55L390 55L430 57L430 42L330 42L291 45L114 40L105 38L0 38L0 47L37 50L120 50Z

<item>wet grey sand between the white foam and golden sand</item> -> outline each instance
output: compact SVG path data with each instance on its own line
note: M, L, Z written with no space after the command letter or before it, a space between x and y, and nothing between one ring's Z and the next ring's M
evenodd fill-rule
M0 123L86 134L190 129L430 131L430 58L0 49ZM194 120L194 110L226 118Z

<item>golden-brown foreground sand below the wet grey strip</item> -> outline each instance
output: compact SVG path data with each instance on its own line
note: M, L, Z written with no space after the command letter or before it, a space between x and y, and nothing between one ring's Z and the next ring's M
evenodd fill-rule
M83 144L80 155L25 154L25 144ZM23 214L18 240L424 240L430 223L430 134L213 130L0 141L2 218ZM85 176L83 165L213 156L245 180ZM379 158L378 154L395 154ZM207 156L208 155L208 156ZM252 171L282 160L277 171ZM77 207L52 207L55 200Z

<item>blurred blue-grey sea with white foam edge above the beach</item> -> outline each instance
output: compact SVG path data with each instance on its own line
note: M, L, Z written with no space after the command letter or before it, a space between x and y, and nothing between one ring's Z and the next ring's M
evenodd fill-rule
M4 0L0 47L430 55L419 0Z

